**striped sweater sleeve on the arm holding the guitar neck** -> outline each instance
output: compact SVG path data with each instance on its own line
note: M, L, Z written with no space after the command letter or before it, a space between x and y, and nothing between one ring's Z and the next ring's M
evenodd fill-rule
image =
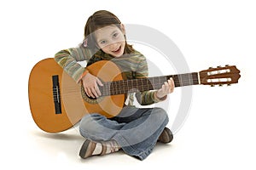
M140 64L137 67L136 78L148 77L148 64L146 58L141 56ZM165 100L166 97L158 99L156 97L157 90L145 91L142 93L136 93L137 101L140 105L152 105L154 103Z

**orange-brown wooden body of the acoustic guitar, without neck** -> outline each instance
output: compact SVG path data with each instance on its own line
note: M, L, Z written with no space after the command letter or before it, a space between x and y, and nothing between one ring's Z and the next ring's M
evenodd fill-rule
M122 80L118 66L109 61L96 62L87 69L102 82ZM86 114L116 116L125 102L125 94L90 99L82 85L69 77L52 58L43 59L32 68L28 94L34 122L49 133L73 127Z

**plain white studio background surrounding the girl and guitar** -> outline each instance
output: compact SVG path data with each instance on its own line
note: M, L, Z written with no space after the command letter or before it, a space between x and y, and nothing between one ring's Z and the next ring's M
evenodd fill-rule
M255 3L153 2L1 1L1 169L256 168ZM123 23L150 26L166 34L182 51L191 71L226 64L241 70L239 83L231 87L193 87L189 116L172 144L157 144L144 161L123 152L81 160L84 139L76 129L44 133L32 120L27 94L32 66L61 49L76 47L83 39L85 21L99 9L112 11ZM177 94L169 98L174 108Z

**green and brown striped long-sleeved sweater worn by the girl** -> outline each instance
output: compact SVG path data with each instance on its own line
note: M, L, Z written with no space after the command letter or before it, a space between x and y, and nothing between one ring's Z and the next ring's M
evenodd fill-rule
M119 66L119 69L125 74L127 79L148 77L148 64L143 54L135 51L132 54L124 54L119 58L114 58L109 54L105 54L102 50L93 54L90 49L79 46L78 48L68 48L61 50L55 54L55 61L61 65L64 71L74 81L79 82L86 67L79 64L78 61L86 61L87 65L91 65L99 60L111 60ZM146 91L136 93L135 96L140 105L151 105L160 101L155 97L156 91ZM134 94L129 94L126 105L134 105Z

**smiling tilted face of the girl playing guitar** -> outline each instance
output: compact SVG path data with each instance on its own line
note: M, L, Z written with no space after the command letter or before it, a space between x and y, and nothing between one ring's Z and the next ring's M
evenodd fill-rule
M120 57L125 51L125 27L106 26L95 31L96 43L106 54Z

